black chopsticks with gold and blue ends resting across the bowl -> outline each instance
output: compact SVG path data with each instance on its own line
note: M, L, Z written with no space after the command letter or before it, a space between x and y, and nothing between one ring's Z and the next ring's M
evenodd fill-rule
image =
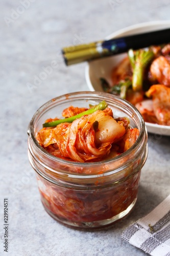
M96 41L90 44L64 47L62 54L68 66L83 61L124 53L129 49L137 50L152 45L168 44L169 42L170 28L110 40Z

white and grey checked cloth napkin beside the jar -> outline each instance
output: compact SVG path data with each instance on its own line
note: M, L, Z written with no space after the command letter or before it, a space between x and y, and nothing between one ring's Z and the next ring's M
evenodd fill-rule
M152 256L170 256L170 195L125 229L122 238Z

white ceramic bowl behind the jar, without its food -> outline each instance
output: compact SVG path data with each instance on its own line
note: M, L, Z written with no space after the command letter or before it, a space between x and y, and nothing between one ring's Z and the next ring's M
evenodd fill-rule
M165 28L170 28L170 20L137 24L135 26L119 30L106 37L106 39ZM89 61L85 68L85 78L90 91L103 91L100 84L101 77L105 78L109 82L109 84L111 84L111 71L113 67L116 66L119 61L122 60L124 57L125 54L123 53L116 56ZM146 125L147 130L150 133L170 136L170 126L153 124L148 122L146 122Z

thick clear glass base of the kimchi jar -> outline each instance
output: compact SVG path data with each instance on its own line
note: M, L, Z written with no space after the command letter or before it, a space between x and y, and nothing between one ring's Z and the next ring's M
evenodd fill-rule
M53 212L51 212L50 210L48 210L44 204L44 208L46 210L46 212L56 221L60 222L61 224L64 224L68 227L71 228L78 228L78 229L96 229L96 228L103 228L103 227L107 227L112 225L114 222L117 222L121 219L123 219L124 217L126 217L128 214L130 214L130 212L132 211L133 207L135 206L137 198L135 198L133 200L133 202L128 206L128 208L122 212L120 212L120 214L117 214L115 216L113 216L110 219L106 219L106 220L101 220L101 221L93 221L93 222L71 222L68 221L64 218L59 218L57 215L53 214Z

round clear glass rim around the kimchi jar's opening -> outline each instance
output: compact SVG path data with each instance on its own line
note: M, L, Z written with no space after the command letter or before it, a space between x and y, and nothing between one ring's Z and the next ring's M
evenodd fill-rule
M44 148L42 146L40 146L40 144L38 143L37 139L36 139L36 134L34 132L34 121L39 117L39 115L43 112L43 111L48 111L50 109L52 109L55 105L55 103L58 103L58 102L62 102L64 99L69 99L70 97L72 96L81 96L83 94L86 94L87 96L91 96L90 99L93 99L93 100L98 100L96 96L105 96L107 99L113 99L113 100L116 100L118 101L119 103L124 103L127 105L127 107L130 107L131 110L133 110L133 112L137 115L138 119L140 120L140 133L139 133L139 136L136 140L136 142L129 148L129 150L127 150L126 152L120 154L119 156L116 156L112 159L107 159L107 160L102 160L102 161L97 161L97 162L74 162L74 161L69 161L69 160L65 160L65 159L61 159L61 158L58 158L56 156L53 156L52 154L48 153L47 151L44 150ZM75 99L75 98L74 98ZM107 100L106 100L107 101ZM54 104L53 104L54 103ZM51 108L49 109L48 106L51 106ZM129 117L128 117L129 118ZM144 133L146 133L146 128L145 128L145 124L144 124L144 120L141 116L141 114L139 113L139 111L136 109L136 107L131 104L130 102L128 102L127 100L125 99L122 99L116 95L112 95L112 94L109 94L109 93L105 93L105 92L89 92L89 91L81 91L81 92L72 92L72 93L68 93L68 94L64 94L64 95L61 95L61 96L58 96L58 97L55 97L49 101L47 101L46 103L44 103L43 105L40 106L40 108L35 112L35 114L33 115L30 123L29 123L29 127L28 127L28 135L32 138L35 146L38 148L38 150L45 156L47 156L49 159L53 160L53 161L57 161L58 163L62 163L65 165L69 164L70 166L79 166L79 167L92 167L92 166L96 166L96 165L99 165L99 164L109 164L111 162L116 162L117 160L120 160L121 158L123 159L124 157L128 156L129 154L132 154L140 145L140 142L142 141L143 139L143 136L144 136ZM147 140L144 141L144 144L143 146L145 147L145 145L147 144ZM128 163L124 163L124 166L128 165ZM119 166L121 167L121 166ZM109 171L108 171L109 172ZM106 171L107 173L107 171ZM70 174L70 172L67 172L67 171L63 171L63 174ZM80 176L80 175L83 175L83 176L90 176L90 174L80 174L80 173L71 173L71 176ZM93 174L94 175L94 174Z

